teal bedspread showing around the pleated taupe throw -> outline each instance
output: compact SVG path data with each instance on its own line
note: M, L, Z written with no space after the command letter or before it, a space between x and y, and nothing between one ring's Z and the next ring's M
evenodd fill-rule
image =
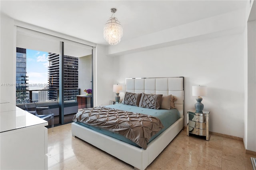
M178 112L177 109L170 109L170 110L159 109L159 110L155 110L155 109L141 108L141 107L137 107L137 106L125 105L125 104L113 104L113 105L109 105L109 106L106 106L106 107L114 108L114 109L118 109L118 110L125 110L125 111L128 111L128 112L148 114L150 116L155 116L155 117L159 118L160 121L162 122L162 124L164 125L164 128L162 130L160 130L157 134L152 136L152 138L150 138L149 142L154 140L154 138L156 138L159 134L164 132L164 130L166 130L168 127L170 127L174 122L176 122L180 118L179 112ZM90 129L95 130L97 132L100 132L102 134L105 134L105 135L111 136L113 138L116 138L118 140L121 140L123 142L126 142L128 144L132 144L134 146L140 147L137 144L135 144L134 142L132 142L131 140L128 140L127 138L125 138L124 136L122 136L120 134L116 134L116 133L113 133L113 132L110 132L108 130L101 129L101 128L98 128L98 127L90 126L90 125L84 124L82 122L76 122L76 123L81 124L83 126L86 126Z

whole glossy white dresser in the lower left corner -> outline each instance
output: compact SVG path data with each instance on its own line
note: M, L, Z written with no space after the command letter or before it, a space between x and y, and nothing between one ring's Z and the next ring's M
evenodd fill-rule
M47 170L48 122L0 103L0 169Z

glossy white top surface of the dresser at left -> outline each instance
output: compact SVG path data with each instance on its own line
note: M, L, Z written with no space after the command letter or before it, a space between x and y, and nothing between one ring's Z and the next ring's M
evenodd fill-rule
M6 132L48 122L10 103L0 104L0 132Z

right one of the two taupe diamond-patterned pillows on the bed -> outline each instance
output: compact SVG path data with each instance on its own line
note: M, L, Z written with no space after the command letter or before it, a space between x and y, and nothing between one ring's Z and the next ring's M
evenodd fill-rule
M139 107L159 109L162 101L162 94L145 94L142 93Z

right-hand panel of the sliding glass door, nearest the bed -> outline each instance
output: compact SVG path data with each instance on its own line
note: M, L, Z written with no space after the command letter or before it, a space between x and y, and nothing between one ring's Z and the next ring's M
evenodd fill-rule
M62 123L72 122L74 114L92 104L92 48L83 44L62 42Z

